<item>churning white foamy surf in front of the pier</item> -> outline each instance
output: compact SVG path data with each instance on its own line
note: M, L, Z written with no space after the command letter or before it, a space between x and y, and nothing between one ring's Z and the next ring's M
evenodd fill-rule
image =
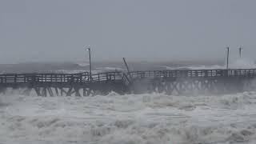
M256 93L0 96L0 143L255 143Z

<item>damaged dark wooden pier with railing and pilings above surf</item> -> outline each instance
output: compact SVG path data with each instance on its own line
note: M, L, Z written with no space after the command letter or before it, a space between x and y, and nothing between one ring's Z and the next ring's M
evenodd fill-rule
M0 92L22 89L38 96L166 93L226 94L256 90L256 69L151 70L92 74L0 74ZM255 82L254 82L255 81Z

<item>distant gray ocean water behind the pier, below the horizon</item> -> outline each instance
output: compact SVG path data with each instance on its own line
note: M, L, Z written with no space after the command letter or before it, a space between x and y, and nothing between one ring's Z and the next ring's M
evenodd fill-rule
M225 62L128 62L131 71L136 70L202 70L226 69ZM230 60L231 69L255 68L256 64L248 58ZM1 73L81 73L89 71L88 62L28 62L18 64L0 64ZM121 70L126 66L121 62L92 62L93 73Z

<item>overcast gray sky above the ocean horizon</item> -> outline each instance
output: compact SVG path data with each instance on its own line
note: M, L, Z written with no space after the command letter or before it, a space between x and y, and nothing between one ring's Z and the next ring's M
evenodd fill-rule
M0 62L256 58L254 0L0 0Z

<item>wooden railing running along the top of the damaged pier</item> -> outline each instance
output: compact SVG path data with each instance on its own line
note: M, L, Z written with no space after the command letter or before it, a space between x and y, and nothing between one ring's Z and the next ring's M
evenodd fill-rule
M26 83L26 82L114 82L122 80L129 85L131 79L136 78L214 78L214 77L255 77L256 69L236 70L149 70L123 73L121 71L90 74L0 74L1 83Z

